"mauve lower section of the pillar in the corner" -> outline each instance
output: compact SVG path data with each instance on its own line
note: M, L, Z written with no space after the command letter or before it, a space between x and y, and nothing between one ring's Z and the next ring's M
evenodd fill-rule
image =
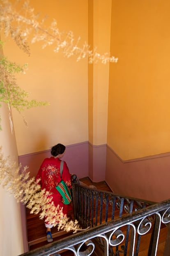
M89 143L89 177L93 182L105 181L106 144L93 146Z

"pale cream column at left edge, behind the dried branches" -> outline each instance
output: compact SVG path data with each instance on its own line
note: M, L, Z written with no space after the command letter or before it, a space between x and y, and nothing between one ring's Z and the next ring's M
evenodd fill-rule
M2 50L0 50L0 54ZM12 123L11 109L6 103L0 102L0 147L4 158L9 162L18 163L18 152ZM23 233L21 227L20 204L16 202L13 195L0 186L0 253L1 255L16 256L22 254Z

